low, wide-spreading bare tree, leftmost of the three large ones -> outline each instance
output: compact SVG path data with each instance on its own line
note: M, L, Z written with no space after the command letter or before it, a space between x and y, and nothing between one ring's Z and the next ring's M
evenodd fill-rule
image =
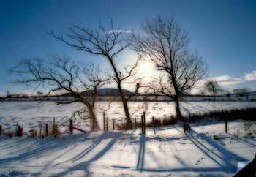
M30 85L34 84L34 90L39 89L42 85L47 85L48 91L45 97L55 91L64 91L72 95L75 99L67 102L57 101L59 104L70 104L73 102L82 102L85 108L78 110L73 114L78 114L80 118L91 119L92 125L97 127L97 119L94 113L94 104L97 96L97 89L109 83L110 78L102 80L99 78L99 67L93 64L83 67L81 64L75 64L67 56L52 56L45 63L43 59L22 59L18 61L15 67L9 69L10 74L15 73L22 75L22 79L14 80L12 83ZM81 91L91 90L91 97L83 97ZM44 99L42 99L44 101ZM89 112L89 117L82 116L83 113ZM94 129L91 127L91 129Z

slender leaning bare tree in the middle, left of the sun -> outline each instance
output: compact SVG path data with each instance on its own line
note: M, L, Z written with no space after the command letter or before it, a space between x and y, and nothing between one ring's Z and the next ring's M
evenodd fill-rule
M127 101L138 93L140 87L140 80L138 78L135 80L136 86L134 94L125 97L122 90L122 85L124 80L134 76L136 74L135 68L138 65L138 59L135 64L130 67L124 67L124 72L118 69L115 64L115 59L118 57L122 51L124 51L129 43L126 42L124 37L124 31L121 29L115 29L113 25L113 20L110 18L110 29L105 29L104 26L99 24L99 30L83 28L82 26L72 25L69 31L66 32L66 36L57 36L50 31L49 34L53 35L56 39L61 40L65 44L75 48L76 50L82 50L86 53L91 53L93 55L104 56L107 59L113 69L113 80L117 83L119 96L124 105L124 113L127 119L127 129L132 128L132 121L129 115L129 109Z

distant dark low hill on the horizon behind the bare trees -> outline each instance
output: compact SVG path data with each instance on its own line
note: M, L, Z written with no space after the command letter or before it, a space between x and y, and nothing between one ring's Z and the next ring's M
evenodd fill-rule
M94 92L93 90L89 90L89 91L83 91L81 94L83 96L86 96L86 95L91 95L93 92ZM123 93L125 96L134 94L133 92L127 91L125 89L123 89ZM118 95L118 94L119 94L118 89L113 89L113 88L105 88L105 89L97 90L97 95L113 96L113 95ZM138 95L138 94L136 94L136 95ZM72 96L72 94L63 94L63 96L69 97L69 96Z

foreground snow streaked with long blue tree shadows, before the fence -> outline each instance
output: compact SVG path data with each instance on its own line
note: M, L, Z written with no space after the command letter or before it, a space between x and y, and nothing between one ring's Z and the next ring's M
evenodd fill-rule
M63 138L0 137L1 176L233 176L252 161L256 140L243 121L197 122L129 131L89 132ZM236 129L241 129L238 138ZM255 127L254 127L255 128ZM214 140L217 135L219 140Z

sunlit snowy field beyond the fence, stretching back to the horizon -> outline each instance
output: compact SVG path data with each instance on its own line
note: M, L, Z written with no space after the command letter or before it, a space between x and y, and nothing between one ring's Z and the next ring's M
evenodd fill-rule
M256 108L256 102L181 102L181 111L186 116L188 111L193 113L208 113L214 110L231 110L242 108ZM17 123L23 127L23 132L29 132L31 128L37 129L42 124L42 131L45 124L53 127L53 117L56 118L61 132L69 131L69 118L76 110L83 108L82 104L74 103L72 105L56 105L55 102L0 102L0 125L4 131L13 131L17 129ZM132 122L137 118L140 122L140 116L143 111L146 112L146 122L151 118L170 118L175 114L174 102L129 102L129 113L132 115ZM113 129L112 120L116 123L124 122L124 110L121 102L113 102L108 109L108 102L97 102L95 105L95 114L99 122L100 129L103 129L103 111L105 117L109 118L109 128ZM174 115L175 116L175 115ZM75 127L89 131L89 123L80 118L74 120Z

